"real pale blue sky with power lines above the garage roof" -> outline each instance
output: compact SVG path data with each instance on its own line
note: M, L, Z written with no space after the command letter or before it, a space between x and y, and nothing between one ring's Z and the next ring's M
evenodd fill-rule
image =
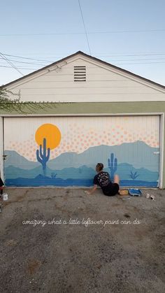
M0 7L0 85L79 50L165 85L164 0L0 0Z

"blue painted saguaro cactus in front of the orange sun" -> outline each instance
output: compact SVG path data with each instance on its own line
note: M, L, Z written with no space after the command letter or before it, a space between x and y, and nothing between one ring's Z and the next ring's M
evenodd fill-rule
M48 154L46 155L46 138L43 138L43 151L42 151L42 145L40 145L40 149L36 150L36 158L39 163L43 166L43 175L46 176L46 163L48 162L48 159L50 158L50 148L48 148Z

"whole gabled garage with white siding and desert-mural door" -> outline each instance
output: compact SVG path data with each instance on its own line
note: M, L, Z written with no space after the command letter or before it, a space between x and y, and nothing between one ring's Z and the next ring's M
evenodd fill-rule
M90 187L101 162L123 187L165 188L163 85L78 51L3 89L22 101L0 111L7 186Z

